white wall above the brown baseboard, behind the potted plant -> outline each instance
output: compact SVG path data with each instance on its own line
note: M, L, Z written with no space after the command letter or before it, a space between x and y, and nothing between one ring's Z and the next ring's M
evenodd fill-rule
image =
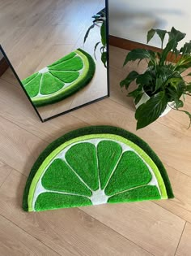
M190 8L190 0L109 0L109 33L146 44L146 33L151 28L170 30L174 26L186 33L185 41L189 41ZM157 37L149 44L160 47Z

